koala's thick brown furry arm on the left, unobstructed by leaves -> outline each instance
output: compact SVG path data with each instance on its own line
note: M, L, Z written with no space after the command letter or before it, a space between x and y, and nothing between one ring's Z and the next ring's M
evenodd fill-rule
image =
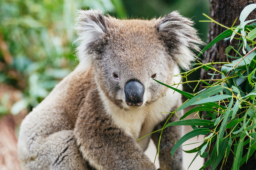
M155 170L136 140L113 125L97 93L90 96L75 126L84 159L97 170Z

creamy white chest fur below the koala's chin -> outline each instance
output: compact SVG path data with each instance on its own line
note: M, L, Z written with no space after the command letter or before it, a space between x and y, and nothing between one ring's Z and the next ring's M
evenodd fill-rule
M166 91L166 94L156 102L138 108L134 106L129 110L123 110L117 107L114 103L100 92L105 110L111 117L113 123L124 130L124 132L132 136L135 140L151 133L156 125L165 120L175 106L177 106L181 96L179 93L171 89ZM167 112L167 113L166 113ZM140 139L137 143L145 151L148 147L150 135Z

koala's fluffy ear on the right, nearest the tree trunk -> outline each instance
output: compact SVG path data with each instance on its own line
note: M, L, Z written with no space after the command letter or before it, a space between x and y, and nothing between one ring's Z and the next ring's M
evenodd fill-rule
M161 39L169 50L169 54L185 70L191 68L191 61L195 60L194 52L200 51L198 45L204 44L192 27L194 23L174 11L164 18L158 19L157 30Z

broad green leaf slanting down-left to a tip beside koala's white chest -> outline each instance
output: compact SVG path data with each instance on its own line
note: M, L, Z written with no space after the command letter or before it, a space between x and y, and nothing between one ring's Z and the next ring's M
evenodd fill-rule
M178 111L185 109L186 107L193 105L195 102L199 101L199 100L203 100L209 96L215 95L218 92L220 92L222 89L224 89L224 87L222 86L213 86L208 88L207 90L205 90L204 92L198 94L197 96L193 97L192 99L190 99L187 103L183 104ZM205 102L206 103L206 102Z

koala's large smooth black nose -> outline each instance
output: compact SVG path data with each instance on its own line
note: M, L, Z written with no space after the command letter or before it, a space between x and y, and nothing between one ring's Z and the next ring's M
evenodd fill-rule
M138 81L129 81L124 87L125 102L129 106L141 106L143 104L144 87Z

